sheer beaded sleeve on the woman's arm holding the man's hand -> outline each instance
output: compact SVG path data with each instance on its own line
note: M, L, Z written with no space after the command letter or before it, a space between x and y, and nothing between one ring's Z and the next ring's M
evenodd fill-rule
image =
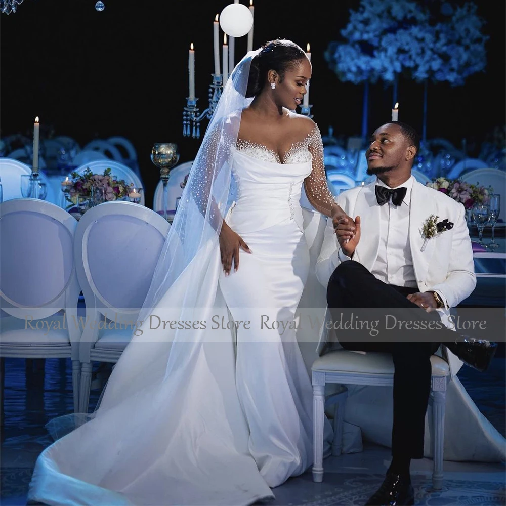
M323 142L316 124L308 137L308 149L313 155L313 168L311 174L304 180L304 189L309 202L317 211L326 216L332 216L332 208L338 208L338 206L327 186L323 163Z

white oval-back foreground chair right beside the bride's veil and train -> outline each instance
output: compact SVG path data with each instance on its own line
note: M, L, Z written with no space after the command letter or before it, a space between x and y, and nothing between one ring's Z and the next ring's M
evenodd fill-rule
M82 332L79 412L88 411L92 362L115 363L130 342L169 229L153 210L124 201L92 207L79 220L74 251L86 319L117 322Z

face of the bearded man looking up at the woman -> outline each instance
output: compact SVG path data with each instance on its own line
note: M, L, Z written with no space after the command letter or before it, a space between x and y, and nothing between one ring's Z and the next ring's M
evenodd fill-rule
M380 126L369 139L365 152L367 174L383 174L399 167L406 160L408 141L395 124Z

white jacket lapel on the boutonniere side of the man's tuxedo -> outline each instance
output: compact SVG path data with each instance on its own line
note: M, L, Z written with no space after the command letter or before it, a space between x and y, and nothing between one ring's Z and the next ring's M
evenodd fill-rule
M418 282L426 279L436 242L434 238L429 239L422 251L425 238L421 231L427 218L436 212L436 201L432 192L417 181L413 182L409 207L409 245L413 269Z

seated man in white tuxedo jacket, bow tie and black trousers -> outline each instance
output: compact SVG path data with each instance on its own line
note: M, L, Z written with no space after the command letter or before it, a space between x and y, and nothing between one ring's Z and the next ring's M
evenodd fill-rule
M409 466L412 458L424 456L430 357L440 343L446 346L452 375L461 362L446 348L484 370L497 346L459 336L444 326L449 323L449 309L476 286L473 252L464 206L411 175L418 149L419 136L405 123L392 121L374 132L366 157L367 173L376 179L336 198L355 217L354 223L328 222L316 264L318 279L328 284L327 303L334 322L347 314L346 308L354 308L347 318L357 313L361 320L389 314L397 320L441 327L385 330L376 338L383 336L382 341L376 342L370 342L368 333L337 332L345 349L389 352L395 367L393 458L385 481L367 504L414 503Z

